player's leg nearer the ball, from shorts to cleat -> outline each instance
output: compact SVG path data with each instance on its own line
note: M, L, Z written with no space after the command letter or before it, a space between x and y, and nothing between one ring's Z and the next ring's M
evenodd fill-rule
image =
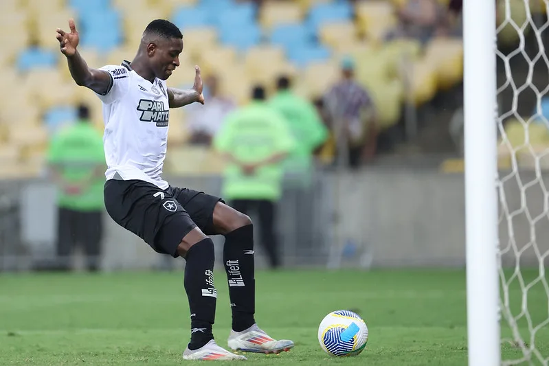
M221 198L188 189L173 188L172 192L206 234L225 236L223 263L232 310L229 347L262 353L279 353L293 347L292 341L276 341L256 325L254 227L250 218L225 205Z

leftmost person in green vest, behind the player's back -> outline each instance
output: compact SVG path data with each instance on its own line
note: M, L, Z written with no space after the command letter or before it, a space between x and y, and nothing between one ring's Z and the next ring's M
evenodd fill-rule
M106 164L102 136L91 124L87 106L79 106L76 123L52 139L47 162L58 190L56 269L71 270L72 250L80 244L87 270L97 271Z

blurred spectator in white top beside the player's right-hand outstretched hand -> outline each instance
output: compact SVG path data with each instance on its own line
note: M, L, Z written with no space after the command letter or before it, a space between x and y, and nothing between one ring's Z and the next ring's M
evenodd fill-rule
M208 100L203 106L197 104L188 108L188 128L190 129L190 144L212 144L212 139L221 128L223 119L232 111L235 104L219 93L219 80L208 76L204 80L204 96Z

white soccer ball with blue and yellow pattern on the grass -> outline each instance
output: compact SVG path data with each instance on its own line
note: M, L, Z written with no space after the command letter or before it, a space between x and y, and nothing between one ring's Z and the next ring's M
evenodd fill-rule
M333 311L320 322L318 341L330 356L357 356L368 342L368 327L352 311Z

